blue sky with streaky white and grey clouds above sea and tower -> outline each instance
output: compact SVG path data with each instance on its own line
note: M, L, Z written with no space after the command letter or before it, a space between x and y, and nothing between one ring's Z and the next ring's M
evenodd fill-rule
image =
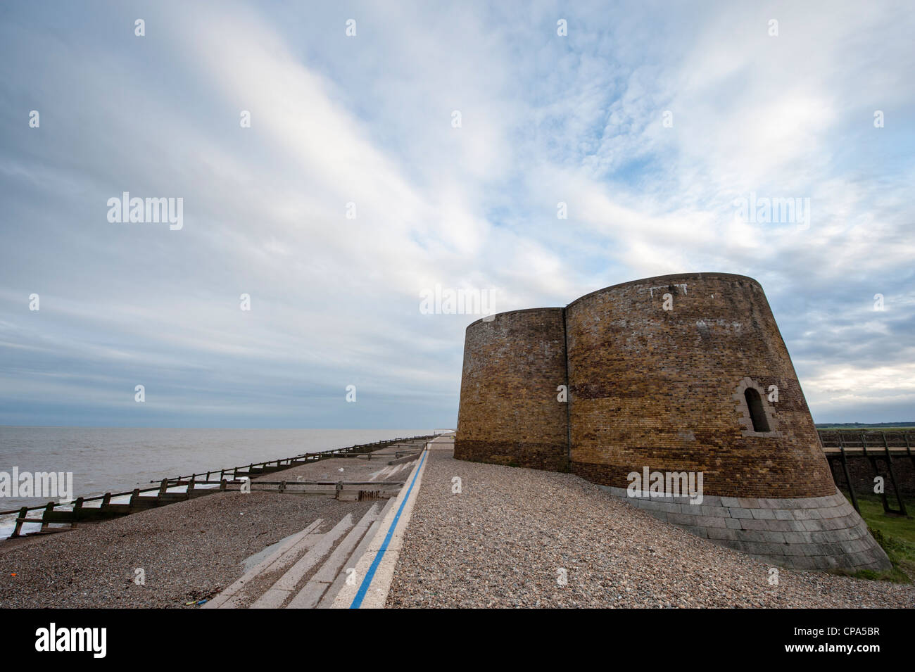
M915 420L913 34L905 2L4 3L0 424L454 427L479 315L436 285L674 272L762 284L815 421Z

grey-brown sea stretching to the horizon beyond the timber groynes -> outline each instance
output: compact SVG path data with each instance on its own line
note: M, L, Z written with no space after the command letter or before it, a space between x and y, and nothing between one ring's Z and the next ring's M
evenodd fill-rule
M0 472L72 472L73 496L149 487L150 481L345 448L431 430L206 430L0 426ZM47 504L0 497L0 511Z

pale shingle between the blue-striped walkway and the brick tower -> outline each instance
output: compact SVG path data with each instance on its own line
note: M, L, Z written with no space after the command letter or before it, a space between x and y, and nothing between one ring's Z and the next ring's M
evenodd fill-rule
M452 455L428 454L388 607L915 607L911 585L821 571L770 585L770 565L574 475Z

